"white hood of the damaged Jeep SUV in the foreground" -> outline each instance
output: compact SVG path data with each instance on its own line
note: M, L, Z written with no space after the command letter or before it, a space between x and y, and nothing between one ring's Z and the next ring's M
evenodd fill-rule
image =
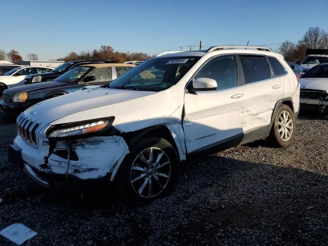
M24 113L32 120L49 124L56 119L79 111L117 104L154 93L156 92L95 88L45 100L27 109ZM110 114L108 112L109 116Z

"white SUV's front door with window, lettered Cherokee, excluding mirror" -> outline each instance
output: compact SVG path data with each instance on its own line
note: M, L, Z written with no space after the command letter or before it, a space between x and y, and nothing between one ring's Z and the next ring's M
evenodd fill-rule
M242 91L233 55L209 60L194 76L212 78L216 91L186 92L183 130L187 152L236 146L242 139Z

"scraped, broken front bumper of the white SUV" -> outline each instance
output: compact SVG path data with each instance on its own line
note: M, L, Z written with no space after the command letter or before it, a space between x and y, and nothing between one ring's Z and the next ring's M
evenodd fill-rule
M24 167L35 182L44 187L74 187L81 181L113 180L129 148L121 136L93 136L57 141L50 151L47 141L32 146L19 135L9 147L9 162ZM70 159L68 160L68 156Z

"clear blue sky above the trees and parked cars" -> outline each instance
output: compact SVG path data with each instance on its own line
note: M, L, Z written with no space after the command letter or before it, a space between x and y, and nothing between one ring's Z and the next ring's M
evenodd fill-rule
M328 0L0 0L0 49L55 59L110 45L158 53L173 47L297 42L311 26L328 31ZM177 50L177 49L175 49Z

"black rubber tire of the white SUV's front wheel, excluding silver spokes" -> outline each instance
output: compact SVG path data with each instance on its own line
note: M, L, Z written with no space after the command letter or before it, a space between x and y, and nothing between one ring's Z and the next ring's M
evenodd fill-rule
M137 166L146 166L142 161L140 160L140 154L144 153L148 157L150 154L146 154L149 152L145 152L152 148L154 151L153 156L154 160L157 159L159 154L156 157L156 152L161 153L164 152L165 154L162 154L161 156L161 161L162 158L168 158L170 163L168 164L170 166L170 175L168 181L166 180L166 177L158 176L155 173L157 173L157 170L163 170L165 169L166 171L168 170L168 165L163 166L157 170L155 170L155 167L152 169L149 169L148 171L151 172L152 174L148 174L148 171L140 171L140 170L132 170L132 167ZM161 152L160 152L161 151ZM146 157L146 156L145 156ZM140 162L140 164L138 164ZM153 162L154 163L154 162ZM166 162L163 162L166 163ZM139 165L139 166L138 166ZM155 163L154 163L155 165ZM161 165L158 165L161 166ZM142 166L143 167L143 166ZM140 172L140 175L136 172ZM164 172L164 171L158 171L159 172ZM147 177L142 177L139 180L132 182L133 180L133 175L138 175L137 177L140 177L141 175L144 175L147 173L147 177L151 179L150 184L152 185L151 191L154 189L153 195L151 197L147 197L147 192L149 195L149 180L147 181L146 187L144 187L143 191L141 194L138 192L141 189L141 186L139 190L137 191L136 187L139 187L139 185L144 182L146 182ZM126 200L129 204L133 205L141 205L141 204L146 204L149 202L152 202L153 200L163 197L165 195L168 195L170 192L174 190L176 187L176 183L178 180L178 173L179 173L179 157L173 148L173 146L170 144L170 142L164 138L160 137L155 137L155 136L150 136L150 137L145 137L144 139L139 140L134 146L131 147L130 149L130 154L127 155L125 160L122 162L119 171L117 173L117 180L116 180L116 185L117 185L117 190L120 193L120 196ZM156 180L155 180L156 176ZM158 178L160 178L158 180ZM158 185L158 182L161 184ZM132 185L133 183L133 185ZM163 189L162 189L163 187ZM145 190L145 189L148 190ZM155 189L157 188L157 189ZM161 190L162 189L162 190ZM161 190L159 194L156 194L157 190ZM151 192L150 192L151 193ZM155 195L156 194L156 195Z

